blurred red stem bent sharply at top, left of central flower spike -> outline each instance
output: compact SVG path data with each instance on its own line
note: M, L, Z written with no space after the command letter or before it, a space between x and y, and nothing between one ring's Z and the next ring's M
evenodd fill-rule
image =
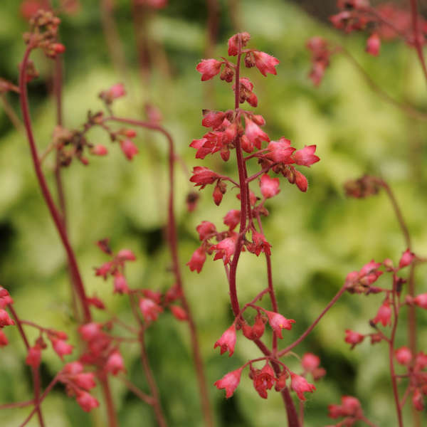
M194 364L196 368L197 381L199 384L199 391L201 396L201 405L204 414L204 420L206 426L214 426L214 418L212 416L211 404L209 403L209 393L206 387L206 376L204 374L203 359L201 357L199 339L197 337L196 323L191 313L189 302L186 299L184 292L184 286L182 284L181 268L179 266L179 255L178 255L178 238L176 236L176 220L174 214L174 162L176 156L174 154L174 140L172 135L159 125L154 125L150 122L142 122L140 120L125 119L122 117L107 117L105 120L112 120L115 122L127 123L128 125L145 127L147 129L156 130L161 132L168 141L169 144L169 201L168 201L168 243L169 249L172 256L173 270L176 280L176 285L181 291L181 305L186 311L187 322L189 324L190 337L191 337L191 350L193 352Z

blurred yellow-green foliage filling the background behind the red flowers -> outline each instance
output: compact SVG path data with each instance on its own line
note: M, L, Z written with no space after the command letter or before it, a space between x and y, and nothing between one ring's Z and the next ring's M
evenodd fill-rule
M189 148L191 139L204 133L201 109L233 107L230 85L216 79L201 83L195 66L204 56L206 44L206 5L202 0L171 0L167 9L154 14L149 33L166 54L169 73L155 68L149 85L142 85L137 65L134 28L128 0L117 0L115 19L127 62L127 76L118 75L102 33L97 1L82 1L75 16L63 16L60 36L67 47L65 60L65 125L78 127L87 111L101 107L97 93L117 81L129 92L117 101L115 112L127 117L143 117L147 100L164 115L164 126L172 132L176 147L189 167L204 164L236 176L232 159L222 164L216 158L200 162ZM252 34L251 46L280 59L278 75L263 78L257 70L246 70L255 84L258 112L267 120L270 137L285 136L295 147L317 144L321 162L308 173L310 187L302 194L296 186L281 180L281 193L268 202L265 234L273 246L273 273L280 311L297 320L285 334L285 345L310 325L339 289L345 275L371 258L399 260L404 239L385 194L367 200L344 198L342 184L364 173L377 174L391 184L413 236L417 253L427 253L426 126L414 122L396 108L386 105L367 88L345 58L333 58L320 88L312 88L305 41L314 35L340 39L339 34L320 25L295 5L280 0L240 2L240 21ZM21 33L26 22L19 16L19 1L3 0L0 6L0 75L16 80L24 46ZM226 40L233 34L227 2L221 1L221 24L216 55L226 54ZM374 80L399 99L427 108L426 87L415 53L401 43L383 46L381 56L364 53L364 36L352 35L342 42ZM36 54L34 60L41 78L30 84L31 112L40 150L51 139L55 125L55 105L50 95L52 64ZM208 96L207 90L211 90ZM8 97L14 107L18 100ZM106 135L91 132L90 140L108 144ZM95 278L93 267L105 256L93 244L109 236L115 250L131 248L137 263L127 270L130 285L164 290L173 283L169 253L163 238L166 218L166 142L152 132L141 132L137 139L140 153L127 162L120 148L110 147L105 158L91 158L90 166L78 162L65 169L70 237L78 256L88 293L102 297L110 310L131 321L129 307L112 295L111 283ZM46 162L53 168L53 159ZM251 172L256 172L253 164ZM8 288L21 317L41 325L66 330L77 343L75 323L70 312L70 285L65 256L33 173L28 144L14 130L0 110L0 284ZM50 181L53 184L53 181ZM53 187L52 187L53 188ZM223 204L212 203L209 188L201 192L198 209L189 214L185 197L191 189L187 176L178 169L175 179L176 214L179 221L179 250L184 266L198 245L195 226L209 220L221 228L228 209L236 209L236 190L230 190ZM418 269L417 288L426 292L423 268ZM211 402L218 426L281 426L285 411L280 395L270 392L262 401L243 377L235 396L228 401L223 391L211 384L248 358L258 356L251 342L238 338L236 354L220 357L213 344L232 320L226 278L221 261L206 262L197 275L184 268L185 288L199 327L201 351L206 366ZM253 298L265 287L263 257L243 253L238 269L238 293L242 301ZM382 285L388 285L381 278ZM344 330L371 332L368 320L374 317L380 297L344 295L303 344L295 349L319 354L327 376L317 384L317 392L307 396L305 426L328 422L327 404L337 403L342 394L361 399L364 409L380 425L394 425L391 386L384 345L368 342L353 351L344 343ZM100 321L107 313L99 313ZM427 317L419 313L420 348L426 348ZM406 344L404 321L398 344ZM19 335L8 328L11 345L1 349L0 403L31 399L31 382L23 363L25 352ZM28 330L31 339L36 335ZM76 344L77 346L78 344ZM424 347L423 347L424 346ZM201 426L201 410L189 350L186 325L163 315L147 334L147 347L154 374L162 391L162 404L170 426ZM132 381L147 389L139 364L138 349L127 347L127 369ZM70 357L68 359L73 359ZM288 359L287 359L288 362ZM296 359L289 358L297 367ZM48 349L43 352L43 385L60 369L61 363ZM112 381L120 415L120 425L154 426L152 410L130 394L122 383ZM50 426L105 426L100 409L88 415L58 387L43 403ZM28 409L1 411L2 426L17 426ZM408 416L408 414L405 414ZM31 426L36 426L34 421Z

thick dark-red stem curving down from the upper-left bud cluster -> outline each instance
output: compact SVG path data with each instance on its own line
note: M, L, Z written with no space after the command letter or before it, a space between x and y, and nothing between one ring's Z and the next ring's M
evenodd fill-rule
M78 295L78 298L80 300L80 305L82 306L82 310L83 310L83 320L85 323L88 323L90 322L90 320L92 320L92 315L90 313L90 307L86 300L86 293L85 293L85 287L83 285L83 280L80 275L80 270L78 268L78 263L75 258L75 254L73 252L73 248L71 247L70 241L68 240L67 231L63 224L62 218L58 212L58 209L56 208L56 205L53 201L51 191L49 191L46 178L43 174L43 170L41 169L41 164L38 159L36 141L34 139L33 128L31 125L30 111L28 108L28 93L26 88L26 66L27 66L28 58L30 57L31 51L33 50L33 47L34 47L33 43L30 40L26 48L26 51L23 55L23 60L19 69L19 90L21 94L20 101L21 101L23 125L25 126L28 143L30 144L31 157L33 159L33 166L38 179L38 185L40 186L41 192L43 194L43 198L45 199L46 205L48 206L48 210L52 216L53 222L55 223L56 229L60 236L60 240L62 241L65 252L67 253L70 274L74 278L73 285L75 287L75 292ZM100 382L101 382L102 388L105 389L105 395L107 396L109 394L109 386L108 386L107 378L105 379L100 378ZM117 418L115 416L115 410L112 407L111 399L107 400L106 403L107 405L110 405L110 407L107 408L107 412L109 413L109 418L108 418L109 426L116 427Z

